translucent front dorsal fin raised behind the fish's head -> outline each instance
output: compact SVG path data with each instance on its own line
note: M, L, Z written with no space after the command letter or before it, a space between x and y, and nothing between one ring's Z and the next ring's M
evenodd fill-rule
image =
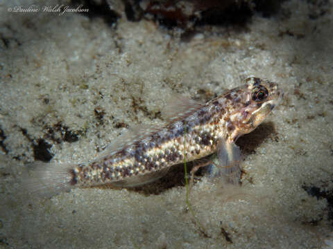
M194 113L194 111L204 107L205 104L191 100L185 96L175 93L167 98L167 104L162 109L162 117L167 122L174 122Z

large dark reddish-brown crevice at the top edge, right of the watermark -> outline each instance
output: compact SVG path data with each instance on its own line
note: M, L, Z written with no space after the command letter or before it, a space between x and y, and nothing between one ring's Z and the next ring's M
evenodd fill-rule
M178 27L187 32L195 26L246 26L255 12L262 13L263 17L276 15L281 9L282 2L278 0L148 1L144 17L153 19L166 28Z

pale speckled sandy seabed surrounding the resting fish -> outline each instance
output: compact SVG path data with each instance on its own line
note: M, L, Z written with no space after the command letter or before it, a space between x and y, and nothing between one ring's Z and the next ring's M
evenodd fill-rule
M320 2L186 40L144 19L1 3L0 248L332 248L333 8ZM237 142L240 187L196 181L204 230L182 165L136 190L21 194L27 163L92 159L128 127L160 124L173 93L206 101L249 75L278 82L284 101Z

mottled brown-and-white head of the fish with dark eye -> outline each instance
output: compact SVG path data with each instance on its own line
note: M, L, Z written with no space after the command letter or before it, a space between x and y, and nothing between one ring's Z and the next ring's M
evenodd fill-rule
M239 136L250 133L271 113L283 98L283 91L278 84L258 77L248 77L245 85L230 91L231 95L237 95L234 101L227 129L233 127L229 134L232 141ZM230 95L230 93L228 93ZM225 96L228 98L228 95ZM230 99L230 97L229 97Z

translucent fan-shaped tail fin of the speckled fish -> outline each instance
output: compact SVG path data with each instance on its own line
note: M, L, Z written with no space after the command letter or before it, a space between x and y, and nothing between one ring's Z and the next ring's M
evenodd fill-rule
M24 192L51 197L75 187L74 164L33 163L23 175Z

